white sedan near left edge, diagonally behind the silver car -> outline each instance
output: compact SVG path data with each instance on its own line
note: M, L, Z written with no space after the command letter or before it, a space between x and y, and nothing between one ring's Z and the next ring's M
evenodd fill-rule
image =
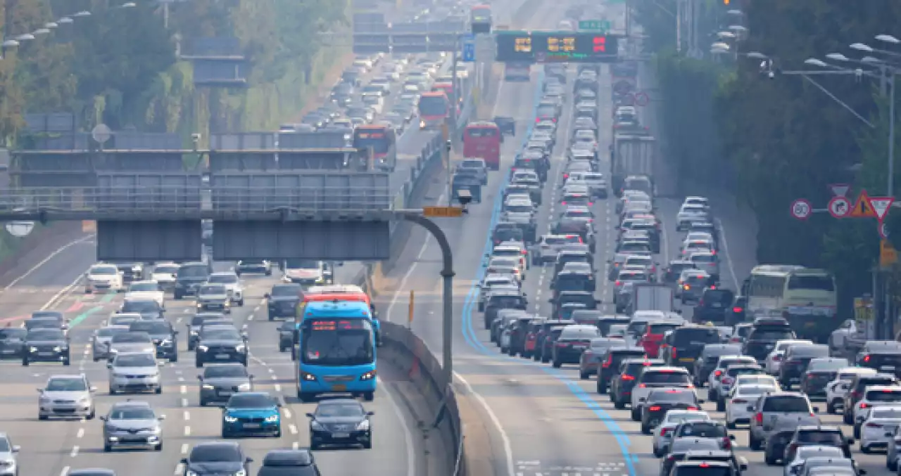
M43 389L39 389L38 419L50 417L93 419L96 415L94 393L84 373L52 375Z

